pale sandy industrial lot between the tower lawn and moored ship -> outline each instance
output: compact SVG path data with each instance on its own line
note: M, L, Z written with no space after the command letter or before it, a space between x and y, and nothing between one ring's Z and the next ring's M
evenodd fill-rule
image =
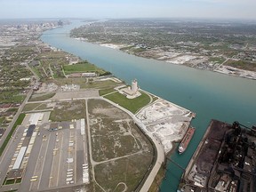
M187 132L195 114L167 100L159 99L141 109L137 117L145 124L147 131L162 143L167 154L172 150L172 142L180 141Z

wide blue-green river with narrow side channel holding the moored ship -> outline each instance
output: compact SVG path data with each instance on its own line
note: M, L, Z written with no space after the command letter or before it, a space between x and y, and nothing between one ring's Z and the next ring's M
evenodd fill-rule
M41 40L89 60L128 84L136 78L140 88L196 112L196 118L192 121L196 127L193 140L184 154L180 156L175 152L171 156L181 166L188 164L211 119L230 124L238 121L250 127L256 124L255 80L148 60L68 36L70 29L83 24L73 20L71 25L45 31ZM176 191L181 174L180 168L168 164L161 191Z

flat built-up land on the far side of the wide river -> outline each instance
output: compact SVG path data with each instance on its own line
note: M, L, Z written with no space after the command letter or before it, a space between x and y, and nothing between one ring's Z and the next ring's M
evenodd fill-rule
M254 24L244 30L244 23L227 23L104 20L74 28L70 36L143 58L256 79Z

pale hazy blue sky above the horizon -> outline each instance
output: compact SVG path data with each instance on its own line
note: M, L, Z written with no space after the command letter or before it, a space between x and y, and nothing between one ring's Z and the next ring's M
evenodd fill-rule
M256 20L256 0L0 0L0 19L17 18Z

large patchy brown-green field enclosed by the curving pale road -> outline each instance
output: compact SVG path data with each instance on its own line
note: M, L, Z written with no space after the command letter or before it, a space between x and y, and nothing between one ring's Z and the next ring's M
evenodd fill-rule
M105 100L88 100L95 178L106 191L134 191L153 162L154 150L131 116ZM127 156L130 155L130 156ZM124 157L125 156L125 157ZM114 158L120 157L118 160ZM111 159L113 159L111 161Z

